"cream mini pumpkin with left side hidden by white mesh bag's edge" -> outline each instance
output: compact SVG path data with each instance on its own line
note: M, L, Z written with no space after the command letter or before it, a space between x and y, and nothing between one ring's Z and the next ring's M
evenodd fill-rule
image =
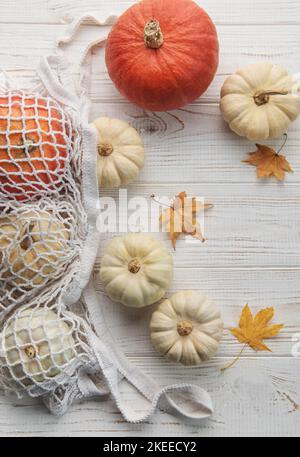
M120 187L133 181L144 166L144 145L127 122L100 117L93 123L98 133L97 172L100 187Z

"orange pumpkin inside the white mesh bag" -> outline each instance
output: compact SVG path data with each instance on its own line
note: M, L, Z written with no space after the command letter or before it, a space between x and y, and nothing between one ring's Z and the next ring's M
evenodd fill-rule
M0 190L17 200L47 193L61 182L70 125L50 99L0 97Z

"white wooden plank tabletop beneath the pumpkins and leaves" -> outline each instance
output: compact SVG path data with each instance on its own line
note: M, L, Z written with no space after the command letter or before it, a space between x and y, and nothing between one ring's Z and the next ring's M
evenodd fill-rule
M40 56L49 54L64 33L66 20L84 11L119 12L132 3L1 0L1 68L29 79ZM205 291L220 306L226 328L237 323L246 302L254 311L274 306L276 321L285 328L270 341L272 353L246 350L235 367L221 374L220 367L240 350L226 330L217 357L200 368L186 369L166 362L152 349L148 321L153 308L145 317L113 305L99 284L107 321L132 362L162 383L192 381L206 388L215 405L213 417L191 426L157 413L145 424L129 425L111 401L89 401L74 405L58 419L37 401L17 402L1 395L1 436L300 435L300 357L291 356L292 338L300 333L300 121L290 129L285 147L294 173L283 184L261 183L255 170L241 163L253 145L227 129L218 108L221 84L237 67L269 60L292 73L300 71L300 5L298 0L199 3L214 19L221 46L217 76L201 100L171 113L146 113L120 97L106 73L103 50L95 50L92 117L127 119L145 138L146 166L129 186L129 196L172 197L186 190L215 204L206 216L207 243L179 243L170 292ZM70 59L78 61L97 33L97 27L84 26L68 49ZM116 192L106 195L117 197Z

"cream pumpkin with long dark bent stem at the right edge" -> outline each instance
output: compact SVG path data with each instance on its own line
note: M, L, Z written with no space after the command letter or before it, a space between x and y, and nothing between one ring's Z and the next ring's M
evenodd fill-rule
M268 62L249 65L229 76L221 89L221 111L229 127L251 141L286 133L300 113L299 84Z

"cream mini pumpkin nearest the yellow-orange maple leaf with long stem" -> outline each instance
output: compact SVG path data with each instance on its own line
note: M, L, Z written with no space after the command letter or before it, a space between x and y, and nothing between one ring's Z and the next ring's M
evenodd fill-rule
M160 354L183 365L199 365L216 353L223 322L206 295L181 291L159 305L152 315L150 332Z

